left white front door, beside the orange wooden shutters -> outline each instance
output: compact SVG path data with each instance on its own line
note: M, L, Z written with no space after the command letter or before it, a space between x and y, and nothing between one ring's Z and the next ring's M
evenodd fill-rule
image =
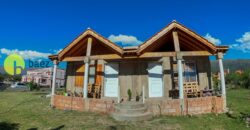
M118 97L118 69L117 63L108 63L105 65L105 97Z

